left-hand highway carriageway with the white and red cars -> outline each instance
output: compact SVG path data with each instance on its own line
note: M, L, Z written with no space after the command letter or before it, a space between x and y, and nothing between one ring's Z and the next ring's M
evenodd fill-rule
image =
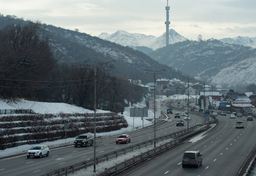
M166 109L164 107L164 109ZM181 113L181 111L177 111ZM174 113L176 111L174 110ZM157 126L156 136L164 136L176 131L187 128L187 122L184 127L176 127L174 114L169 114L166 118L166 123ZM184 119L184 117L181 117ZM203 118L194 114L190 114L190 126L203 123ZM102 143L96 148L96 157L110 153L115 150L127 147L127 145L142 143L142 141L154 138L153 127L129 133L131 143L116 144L116 137L105 138ZM74 138L75 139L75 138ZM0 161L0 175L42 175L49 171L58 170L58 168L68 167L72 164L82 163L83 161L93 158L92 147L63 147L59 150L51 150L49 157L42 158L26 158L26 155L21 155L12 158L6 158ZM97 166L96 166L97 168Z

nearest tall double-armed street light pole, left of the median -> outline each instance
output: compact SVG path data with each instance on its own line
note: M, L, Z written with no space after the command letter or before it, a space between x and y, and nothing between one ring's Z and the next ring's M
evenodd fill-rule
M116 60L112 60L110 62L115 62ZM92 64L92 63L79 63L79 64L83 64L83 65L91 65L92 67L82 67L82 68L87 68L87 69L93 69L94 71L94 137L93 137L93 172L96 172L96 75L97 75L97 69L102 68L102 67L107 67L107 63L110 62L104 62L104 63L100 63L100 64ZM78 63L78 62L74 62L74 63ZM100 66L97 67L98 65L105 65L105 66Z

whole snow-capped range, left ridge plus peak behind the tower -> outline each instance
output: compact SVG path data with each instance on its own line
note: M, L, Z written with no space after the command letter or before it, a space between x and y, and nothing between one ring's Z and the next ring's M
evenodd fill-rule
M142 33L129 33L126 31L117 31L109 35L103 32L99 35L99 38L109 40L110 42L117 43L123 46L146 46L153 50L166 46L166 32L163 33L159 38L152 35L144 35ZM179 35L174 29L170 29L169 43L173 44L176 42L183 42L187 40L183 36Z

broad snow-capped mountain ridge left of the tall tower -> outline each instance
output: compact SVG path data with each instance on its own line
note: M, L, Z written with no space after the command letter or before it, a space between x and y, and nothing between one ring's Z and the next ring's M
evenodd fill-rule
M110 42L117 43L123 46L147 46L154 42L157 38L152 35L144 35L142 33L129 33L126 31L117 31L109 35L103 32L99 35L99 38L109 40Z

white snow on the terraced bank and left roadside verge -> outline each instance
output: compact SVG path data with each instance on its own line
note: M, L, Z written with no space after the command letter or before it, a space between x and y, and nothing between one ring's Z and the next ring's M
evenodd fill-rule
M144 102L140 104L146 104ZM136 105L136 106L142 106L142 105ZM92 110L83 109L82 107L78 106L72 106L70 104L65 103L43 103L43 102L36 102L36 101L28 101L28 100L19 100L12 103L8 103L7 101L0 100L0 109L32 109L36 113L51 113L51 114L58 114L58 113L94 113ZM103 111L103 110L96 110L96 113L109 113L109 111ZM119 134L128 133L130 131L137 130L139 128L142 128L142 125L144 123L144 127L150 126L152 122L148 120L142 121L141 117L134 117L134 128L133 128L133 117L129 117L129 113L127 111L124 111L123 115L124 118L127 120L128 127L122 128L120 130L116 131L110 131L106 133L96 133L96 138L104 138L104 137L110 137L110 136L117 136ZM7 114L6 114L7 115ZM6 116L5 114L0 114L1 116ZM7 115L8 116L8 115ZM75 137L73 138L67 138L62 140L56 140L56 141L49 141L44 142L42 144L48 145L49 148L58 148L63 147L67 145L72 145L73 141L75 140ZM35 144L34 144L35 145ZM5 150L1 150L0 158L3 157L9 157L12 155L21 155L26 154L29 148L31 148L33 145L21 145L14 148L6 148Z

